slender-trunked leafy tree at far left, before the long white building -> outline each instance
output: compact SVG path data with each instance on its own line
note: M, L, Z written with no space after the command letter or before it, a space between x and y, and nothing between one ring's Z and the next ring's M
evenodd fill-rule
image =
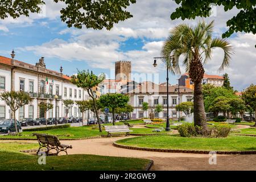
M14 125L15 125L15 132L17 133L17 123L16 123L16 110L24 105L29 104L32 101L32 98L29 94L24 93L22 91L15 92L2 92L0 93L0 98L2 101L6 103L7 106L10 107L11 111L14 113Z

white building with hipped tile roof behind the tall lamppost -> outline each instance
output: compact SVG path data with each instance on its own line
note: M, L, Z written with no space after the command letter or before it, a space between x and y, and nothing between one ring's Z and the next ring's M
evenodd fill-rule
M175 106L181 102L193 101L193 90L184 86L169 86L169 117L177 119L185 114L175 109ZM142 82L136 89L127 93L130 97L129 104L134 107L132 118L146 118L150 113L154 113L154 118L167 118L167 87L154 84L152 82ZM142 110L142 103L148 103L148 110ZM155 106L162 105L163 111L155 112Z

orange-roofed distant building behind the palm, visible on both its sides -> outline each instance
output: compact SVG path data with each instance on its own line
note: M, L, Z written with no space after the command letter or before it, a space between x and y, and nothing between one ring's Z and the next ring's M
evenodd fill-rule
M224 82L224 77L223 76L218 76L218 75L208 75L204 74L204 78L202 80L202 84L212 84L214 86L222 86ZM188 73L184 73L181 75L179 78L179 85L180 86L185 86L186 88L189 89L194 89L194 84L191 78L189 78Z

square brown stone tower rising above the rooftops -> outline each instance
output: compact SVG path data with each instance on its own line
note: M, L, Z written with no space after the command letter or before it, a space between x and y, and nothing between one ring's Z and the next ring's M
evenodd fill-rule
M115 80L130 80L131 61L115 62Z

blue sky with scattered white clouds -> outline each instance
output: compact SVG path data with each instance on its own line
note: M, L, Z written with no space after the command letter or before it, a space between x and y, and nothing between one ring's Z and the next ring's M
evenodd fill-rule
M67 75L76 73L78 68L93 70L97 74L104 72L111 78L114 61L129 60L133 73L159 74L159 82L166 81L166 71L161 61L158 61L159 67L156 68L152 67L152 63L153 57L160 55L168 30L184 22L170 19L171 12L177 7L175 2L138 1L129 7L134 17L115 24L111 31L67 28L59 18L63 6L63 3L46 0L43 16L31 14L29 18L0 20L0 55L10 57L14 48L15 59L26 63L35 64L43 56L47 68L59 71L62 65ZM204 20L215 20L214 36L221 36L227 30L226 20L236 13L236 10L225 13L217 7L216 15ZM202 19L185 20L185 23L196 24L199 20ZM232 85L238 90L251 83L256 84L255 35L238 33L228 40L236 48L230 67L224 72L217 72L222 52L216 49L213 59L205 65L205 71L217 75L227 72ZM171 84L176 84L177 77L170 76Z

